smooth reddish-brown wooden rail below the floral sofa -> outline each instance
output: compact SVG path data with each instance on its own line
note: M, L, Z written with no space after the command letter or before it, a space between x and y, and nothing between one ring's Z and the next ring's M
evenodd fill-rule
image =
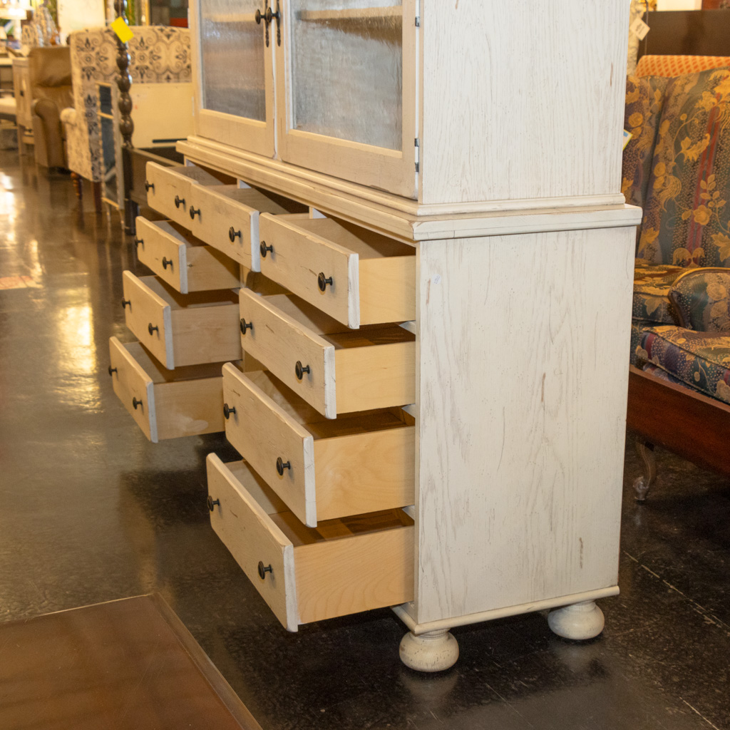
M730 406L631 366L626 425L651 444L730 476Z

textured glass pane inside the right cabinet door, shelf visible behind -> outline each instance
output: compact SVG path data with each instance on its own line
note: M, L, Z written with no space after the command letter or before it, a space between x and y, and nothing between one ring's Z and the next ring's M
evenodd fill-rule
M293 128L400 150L401 0L290 0Z

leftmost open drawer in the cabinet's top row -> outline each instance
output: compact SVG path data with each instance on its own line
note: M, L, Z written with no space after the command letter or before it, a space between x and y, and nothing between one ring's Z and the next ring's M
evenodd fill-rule
M147 204L167 218L188 226L190 223L191 187L198 183L222 185L223 183L195 165L165 167L148 162L146 170Z

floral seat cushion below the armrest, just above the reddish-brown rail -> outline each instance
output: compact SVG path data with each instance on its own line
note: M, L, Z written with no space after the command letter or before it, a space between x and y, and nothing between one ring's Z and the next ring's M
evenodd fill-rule
M658 326L642 335L645 360L707 396L730 403L730 334Z

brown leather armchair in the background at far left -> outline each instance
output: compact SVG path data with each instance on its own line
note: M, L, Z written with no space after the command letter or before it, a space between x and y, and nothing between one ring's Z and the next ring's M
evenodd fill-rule
M66 167L61 110L72 100L71 62L65 46L35 47L28 54L36 162Z

